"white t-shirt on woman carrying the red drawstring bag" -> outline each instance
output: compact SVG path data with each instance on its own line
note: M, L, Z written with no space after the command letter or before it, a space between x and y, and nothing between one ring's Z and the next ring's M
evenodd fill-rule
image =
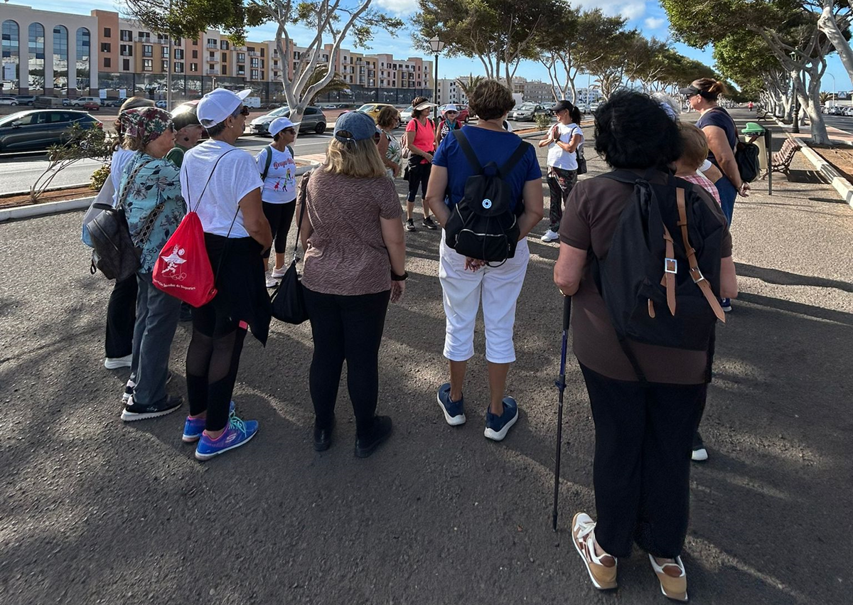
M212 173L213 165L220 157L222 160ZM208 177L210 183L201 195ZM252 155L223 141L209 139L183 155L181 193L188 209L198 213L205 233L229 236L233 220L234 227L229 237L248 237L239 204L248 193L260 189L263 184Z

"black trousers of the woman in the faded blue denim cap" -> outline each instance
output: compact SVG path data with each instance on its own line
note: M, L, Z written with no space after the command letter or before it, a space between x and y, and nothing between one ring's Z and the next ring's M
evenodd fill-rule
M334 421L340 373L346 360L346 386L356 431L366 436L374 426L379 398L379 346L390 291L359 296L322 294L308 288L305 306L314 338L309 386L317 427Z

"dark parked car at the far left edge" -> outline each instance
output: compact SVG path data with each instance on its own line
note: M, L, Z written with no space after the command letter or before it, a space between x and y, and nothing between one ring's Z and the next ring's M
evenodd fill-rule
M0 153L41 151L67 138L73 124L103 128L103 124L82 111L69 109L28 109L0 119Z

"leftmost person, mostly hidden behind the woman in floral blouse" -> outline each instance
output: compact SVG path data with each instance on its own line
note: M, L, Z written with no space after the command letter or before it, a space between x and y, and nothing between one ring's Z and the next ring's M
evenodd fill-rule
M119 109L121 114L133 108L153 108L154 101L142 96L131 96L122 103ZM122 169L131 159L133 153L130 149L122 148L123 126L120 119L115 121L116 139L113 147L113 160L110 161L110 181L113 190L113 206L119 201L119 187L121 185ZM104 359L104 367L107 369L130 368L133 361L133 327L136 324L136 276L131 275L125 280L116 280L113 292L107 303L107 336L104 340L104 348L107 358ZM129 384L125 388L125 397L122 403L130 398L133 387Z

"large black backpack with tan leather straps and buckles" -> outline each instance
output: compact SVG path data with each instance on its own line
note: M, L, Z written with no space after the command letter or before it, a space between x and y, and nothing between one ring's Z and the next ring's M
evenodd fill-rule
M611 178L634 185L603 258L590 253L593 275L637 379L645 375L629 340L711 352L719 303L724 222L693 184L669 176L650 183L633 172Z

